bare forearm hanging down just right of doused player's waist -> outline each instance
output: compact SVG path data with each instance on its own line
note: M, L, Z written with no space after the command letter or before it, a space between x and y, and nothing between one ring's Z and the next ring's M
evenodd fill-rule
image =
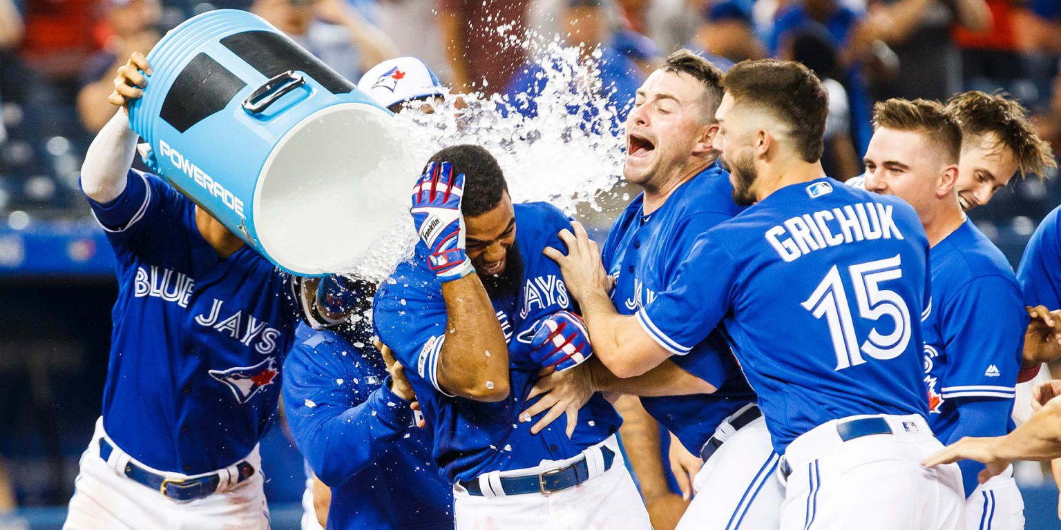
M615 402L615 409L623 417L619 432L641 484L641 495L649 500L668 493L671 489L663 473L663 452L656 420L632 395L624 395Z

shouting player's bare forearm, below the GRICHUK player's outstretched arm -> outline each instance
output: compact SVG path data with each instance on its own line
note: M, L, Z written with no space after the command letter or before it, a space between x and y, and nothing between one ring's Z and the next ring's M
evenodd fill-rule
M708 394L717 390L672 360L664 360L641 375L626 378L616 377L596 357L590 357L587 363L590 364L593 386L599 392L660 396Z

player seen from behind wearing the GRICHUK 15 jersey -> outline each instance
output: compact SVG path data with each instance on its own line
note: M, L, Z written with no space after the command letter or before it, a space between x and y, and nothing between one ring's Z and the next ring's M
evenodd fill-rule
M745 61L723 86L713 145L750 206L698 238L680 289L621 315L580 225L560 234L567 255L546 250L595 356L637 375L721 323L784 455L782 530L960 528L957 466L918 465L941 445L925 420L928 241L916 212L823 175L827 95L802 65Z

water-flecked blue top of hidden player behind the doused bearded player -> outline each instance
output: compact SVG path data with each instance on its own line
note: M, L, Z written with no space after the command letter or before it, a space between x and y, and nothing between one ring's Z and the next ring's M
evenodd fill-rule
M431 458L431 430L384 383L369 330L317 332L283 365L292 437L331 487L328 528L452 529L453 493Z

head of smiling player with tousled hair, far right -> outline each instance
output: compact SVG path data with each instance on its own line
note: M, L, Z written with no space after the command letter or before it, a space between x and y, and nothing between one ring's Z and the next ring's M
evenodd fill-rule
M964 210L988 204L1017 172L1043 178L1057 167L1049 143L1039 137L1019 101L973 90L947 100L946 110L961 125L956 189Z

